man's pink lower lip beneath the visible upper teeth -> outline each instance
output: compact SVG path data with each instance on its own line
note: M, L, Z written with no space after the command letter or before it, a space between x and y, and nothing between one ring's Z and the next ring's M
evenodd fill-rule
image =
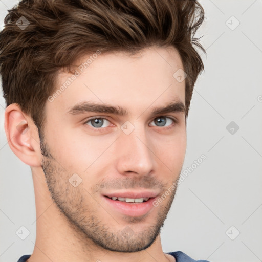
M126 203L124 201L112 200L104 197L106 203L116 209L118 212L129 216L142 216L148 213L154 206L155 198L150 198L142 203Z

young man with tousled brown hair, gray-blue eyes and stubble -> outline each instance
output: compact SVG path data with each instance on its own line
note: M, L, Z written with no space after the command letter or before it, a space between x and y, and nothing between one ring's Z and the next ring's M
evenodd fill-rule
M9 11L5 130L31 166L32 255L47 261L195 261L164 253L203 63L196 1L37 0ZM203 260L199 260L203 261Z

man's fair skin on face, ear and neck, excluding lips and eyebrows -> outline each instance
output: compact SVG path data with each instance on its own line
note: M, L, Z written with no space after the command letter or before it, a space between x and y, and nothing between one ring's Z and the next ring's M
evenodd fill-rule
M76 64L87 58L81 59ZM185 113L151 114L174 101L185 104L185 81L173 77L178 69L183 65L172 47L100 54L47 101L41 139L30 116L17 104L7 107L9 145L33 176L37 234L30 262L175 261L163 252L159 232L176 190L142 216L122 214L104 195L154 190L160 197L179 179ZM59 73L57 89L71 75ZM129 114L69 113L86 101L121 106ZM164 126L155 121L161 116ZM108 121L94 127L88 121L93 117ZM126 121L135 127L129 135L121 129ZM76 187L69 182L73 174L81 178Z

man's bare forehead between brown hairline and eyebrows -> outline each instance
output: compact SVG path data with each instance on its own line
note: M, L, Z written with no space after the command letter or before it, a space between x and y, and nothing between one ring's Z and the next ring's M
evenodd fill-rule
M173 47L146 48L135 55L99 52L75 61L75 77L71 73L58 74L51 96L56 95L47 107L65 112L74 104L93 101L141 113L153 103L185 101L185 81L173 76L183 70Z

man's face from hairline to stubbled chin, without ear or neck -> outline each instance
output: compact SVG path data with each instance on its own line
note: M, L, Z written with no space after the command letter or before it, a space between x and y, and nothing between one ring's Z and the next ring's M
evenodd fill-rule
M143 250L163 226L186 150L185 81L173 77L182 68L173 48L101 53L47 102L41 149L51 196L100 247ZM57 89L71 76L59 74Z

